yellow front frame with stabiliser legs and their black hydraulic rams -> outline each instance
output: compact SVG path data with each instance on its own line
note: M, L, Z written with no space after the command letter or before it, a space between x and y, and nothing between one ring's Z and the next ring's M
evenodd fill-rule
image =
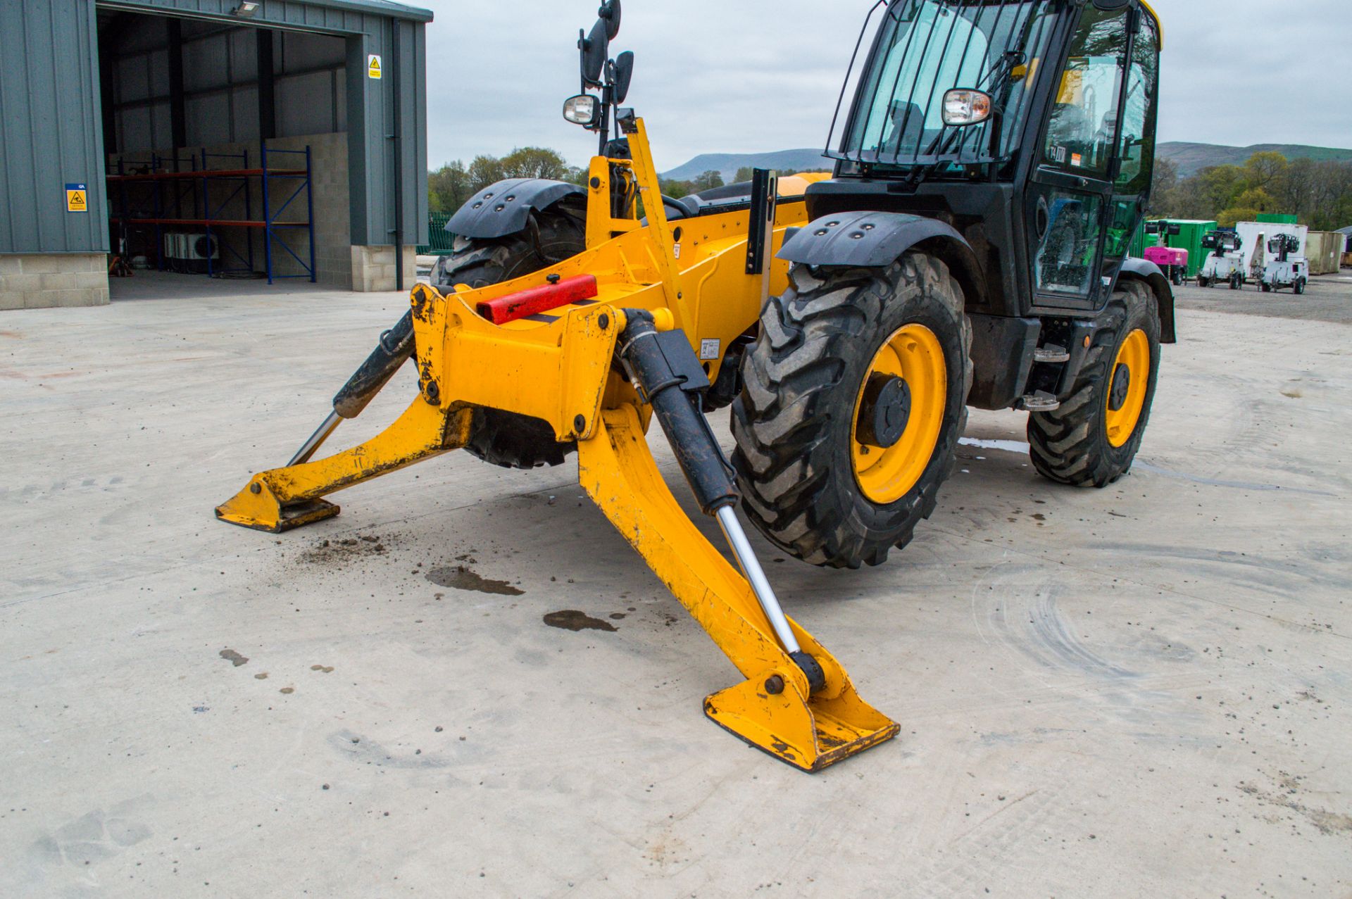
M289 465L256 475L216 515L273 533L307 525L338 514L329 493L464 446L483 408L541 419L558 441L577 442L581 487L746 679L707 696L704 712L753 746L818 771L890 739L898 725L860 699L841 664L780 610L700 411L700 391L721 360L702 364L694 349L727 346L754 324L767 293L784 288L786 266L773 251L784 230L806 219L804 204L800 196L776 203L773 178L761 177L750 210L684 219L677 233L662 210L642 120L625 126L633 158L591 165L585 251L480 289L458 285L443 296L416 285L408 314L335 397L329 420ZM646 226L614 218L611 177L637 183ZM579 278L595 278L595 296L549 315L495 324L480 314L492 300L512 303ZM410 357L419 395L403 415L365 443L314 460L337 423L356 416ZM737 568L664 483L645 437L652 418L702 511L718 519Z

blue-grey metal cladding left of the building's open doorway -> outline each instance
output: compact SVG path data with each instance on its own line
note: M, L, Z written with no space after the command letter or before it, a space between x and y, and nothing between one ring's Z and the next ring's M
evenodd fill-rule
M0 3L0 253L108 249L93 3ZM66 212L84 184L88 212Z

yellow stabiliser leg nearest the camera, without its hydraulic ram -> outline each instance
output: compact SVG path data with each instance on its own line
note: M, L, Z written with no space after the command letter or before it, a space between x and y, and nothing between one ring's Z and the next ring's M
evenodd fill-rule
M860 699L840 662L790 621L826 676L825 689L810 692L750 584L677 506L633 406L603 412L595 435L577 450L583 488L746 677L707 696L706 715L803 771L821 771L896 735L896 722Z

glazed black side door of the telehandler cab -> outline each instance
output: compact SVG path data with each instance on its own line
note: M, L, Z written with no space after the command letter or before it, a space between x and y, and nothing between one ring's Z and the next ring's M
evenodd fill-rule
M1102 261L1118 212L1117 135L1136 18L1132 8L1087 5L1053 87L1025 200L1034 307L1098 308L1106 300Z

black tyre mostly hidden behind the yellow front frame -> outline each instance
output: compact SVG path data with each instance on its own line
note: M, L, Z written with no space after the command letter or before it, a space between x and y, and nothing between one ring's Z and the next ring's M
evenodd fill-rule
M473 288L499 284L538 272L587 249L585 231L573 216L535 212L533 228L504 238L456 238L454 251L437 260L433 285L442 293L457 284ZM465 449L485 462L503 468L562 465L577 443L560 443L554 429L538 418L495 408L475 411Z

